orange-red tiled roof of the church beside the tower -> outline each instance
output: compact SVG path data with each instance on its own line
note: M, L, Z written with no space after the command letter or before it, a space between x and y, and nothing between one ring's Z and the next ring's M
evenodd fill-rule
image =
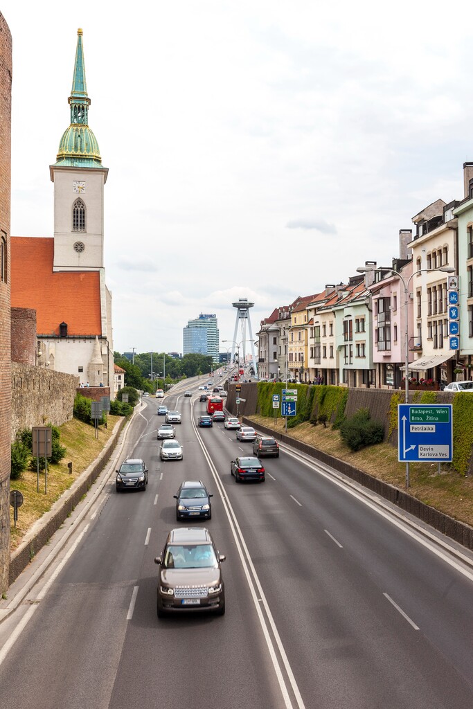
M34 308L38 335L101 335L98 271L52 272L54 239L11 237L11 307Z

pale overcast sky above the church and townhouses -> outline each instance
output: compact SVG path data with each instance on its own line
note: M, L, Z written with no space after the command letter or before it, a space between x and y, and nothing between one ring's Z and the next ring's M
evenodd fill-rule
M1 12L12 235L53 235L49 165L84 30L115 350L182 352L201 312L233 338L244 297L256 332L366 260L390 264L413 215L463 197L467 1L4 0Z

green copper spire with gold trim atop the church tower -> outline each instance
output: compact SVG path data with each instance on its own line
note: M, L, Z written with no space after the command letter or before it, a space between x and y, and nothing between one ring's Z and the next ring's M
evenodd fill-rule
M68 102L71 108L71 124L62 135L55 164L70 167L101 167L99 143L89 128L90 99L87 96L85 82L81 29L77 30L76 60Z

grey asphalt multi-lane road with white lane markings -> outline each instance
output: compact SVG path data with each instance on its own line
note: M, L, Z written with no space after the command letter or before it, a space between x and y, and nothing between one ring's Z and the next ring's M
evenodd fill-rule
M450 557L285 448L265 459L264 484L235 484L230 460L251 445L223 424L198 430L204 404L183 393L165 402L182 412L183 461L160 462L160 401L145 398L120 460L148 463L147 491L117 494L111 474L1 623L1 708L471 709L467 552ZM173 499L184 479L214 494L223 617L156 615L154 559L185 524Z

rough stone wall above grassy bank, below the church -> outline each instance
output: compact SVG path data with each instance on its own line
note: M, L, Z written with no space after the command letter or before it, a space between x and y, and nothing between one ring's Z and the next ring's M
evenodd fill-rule
M60 426L72 418L77 376L12 362L11 382L11 440L21 428Z

